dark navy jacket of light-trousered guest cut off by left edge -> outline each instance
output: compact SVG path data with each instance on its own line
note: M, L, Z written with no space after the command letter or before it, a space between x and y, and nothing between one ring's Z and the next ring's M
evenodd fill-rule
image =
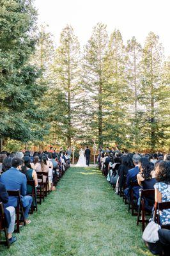
M0 201L3 204L8 202L8 193L6 192L6 188L2 182L0 182ZM5 216L5 226L8 228L11 222L10 212L4 207L4 216Z

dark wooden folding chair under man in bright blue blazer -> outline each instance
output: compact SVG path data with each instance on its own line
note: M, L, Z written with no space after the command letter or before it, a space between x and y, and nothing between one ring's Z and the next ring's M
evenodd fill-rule
M17 214L17 229L14 232L19 233L20 232L20 216L23 219L24 226L26 226L26 219L24 217L24 209L22 206L22 201L20 198L20 191L19 190L7 190L7 193L9 196L15 196L17 198L17 206L15 207L15 211Z

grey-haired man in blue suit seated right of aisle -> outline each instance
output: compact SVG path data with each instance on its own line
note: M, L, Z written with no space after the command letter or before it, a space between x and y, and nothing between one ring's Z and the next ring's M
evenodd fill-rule
M138 166L139 159L140 159L140 156L138 154L134 154L133 162L134 162L135 167L130 169L130 170L128 170L128 174L127 174L127 188L124 190L125 196L127 198L130 195L130 189L131 189L130 183L137 181L137 174L139 173L139 166ZM134 191L134 196L136 198L139 198L139 189L140 188L141 188L140 186L135 186L135 187L132 188L133 191Z

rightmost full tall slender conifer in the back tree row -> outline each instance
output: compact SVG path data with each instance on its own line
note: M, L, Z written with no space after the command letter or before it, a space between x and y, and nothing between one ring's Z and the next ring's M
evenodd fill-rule
M140 102L144 106L145 112L145 143L153 151L155 147L161 147L160 138L162 137L159 120L161 118L160 104L164 95L162 86L163 56L162 45L158 36L149 33L143 49L143 78L141 81ZM162 95L164 97L162 98ZM160 127L159 127L160 126Z

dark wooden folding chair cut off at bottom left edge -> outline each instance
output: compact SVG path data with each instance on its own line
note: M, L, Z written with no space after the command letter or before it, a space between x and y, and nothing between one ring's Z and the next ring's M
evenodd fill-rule
M8 248L10 248L8 232L7 232L7 228L5 227L4 207L2 202L0 202L0 236L1 236L1 231L4 232L5 241L0 241L0 244L5 244Z

